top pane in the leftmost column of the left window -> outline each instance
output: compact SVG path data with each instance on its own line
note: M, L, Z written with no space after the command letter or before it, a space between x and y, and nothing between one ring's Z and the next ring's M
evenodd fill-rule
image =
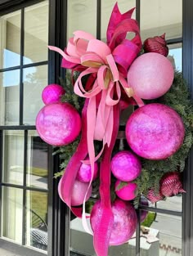
M20 11L0 17L0 69L20 65Z

